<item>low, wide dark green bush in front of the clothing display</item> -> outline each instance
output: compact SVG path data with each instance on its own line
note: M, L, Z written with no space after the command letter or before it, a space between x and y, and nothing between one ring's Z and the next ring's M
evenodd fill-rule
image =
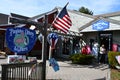
M94 56L80 53L71 55L70 59L74 64L91 64L94 59Z

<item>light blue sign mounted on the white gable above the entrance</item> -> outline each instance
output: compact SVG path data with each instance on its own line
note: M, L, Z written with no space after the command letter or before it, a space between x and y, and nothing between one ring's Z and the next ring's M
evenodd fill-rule
M98 20L92 24L93 30L104 30L109 28L109 22L104 20Z

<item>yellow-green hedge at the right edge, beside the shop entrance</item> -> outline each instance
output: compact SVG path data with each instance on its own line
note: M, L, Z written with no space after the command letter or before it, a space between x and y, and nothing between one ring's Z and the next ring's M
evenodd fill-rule
M108 52L108 62L111 68L115 68L115 66L119 65L115 58L115 56L117 55L120 55L120 52L113 52L113 51Z

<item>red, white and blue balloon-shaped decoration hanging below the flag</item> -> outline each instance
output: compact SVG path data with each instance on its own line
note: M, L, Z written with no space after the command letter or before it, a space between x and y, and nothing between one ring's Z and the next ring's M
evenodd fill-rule
M56 33L50 33L47 36L47 40L48 40L48 43L50 44L50 46L52 47L52 49L54 49L55 45L58 41L58 35Z

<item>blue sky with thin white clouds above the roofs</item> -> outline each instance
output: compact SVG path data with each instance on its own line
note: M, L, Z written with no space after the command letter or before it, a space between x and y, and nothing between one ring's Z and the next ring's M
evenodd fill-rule
M84 6L94 15L120 11L120 0L0 0L0 13L34 17L55 7L64 7L67 2L69 10L79 10Z

